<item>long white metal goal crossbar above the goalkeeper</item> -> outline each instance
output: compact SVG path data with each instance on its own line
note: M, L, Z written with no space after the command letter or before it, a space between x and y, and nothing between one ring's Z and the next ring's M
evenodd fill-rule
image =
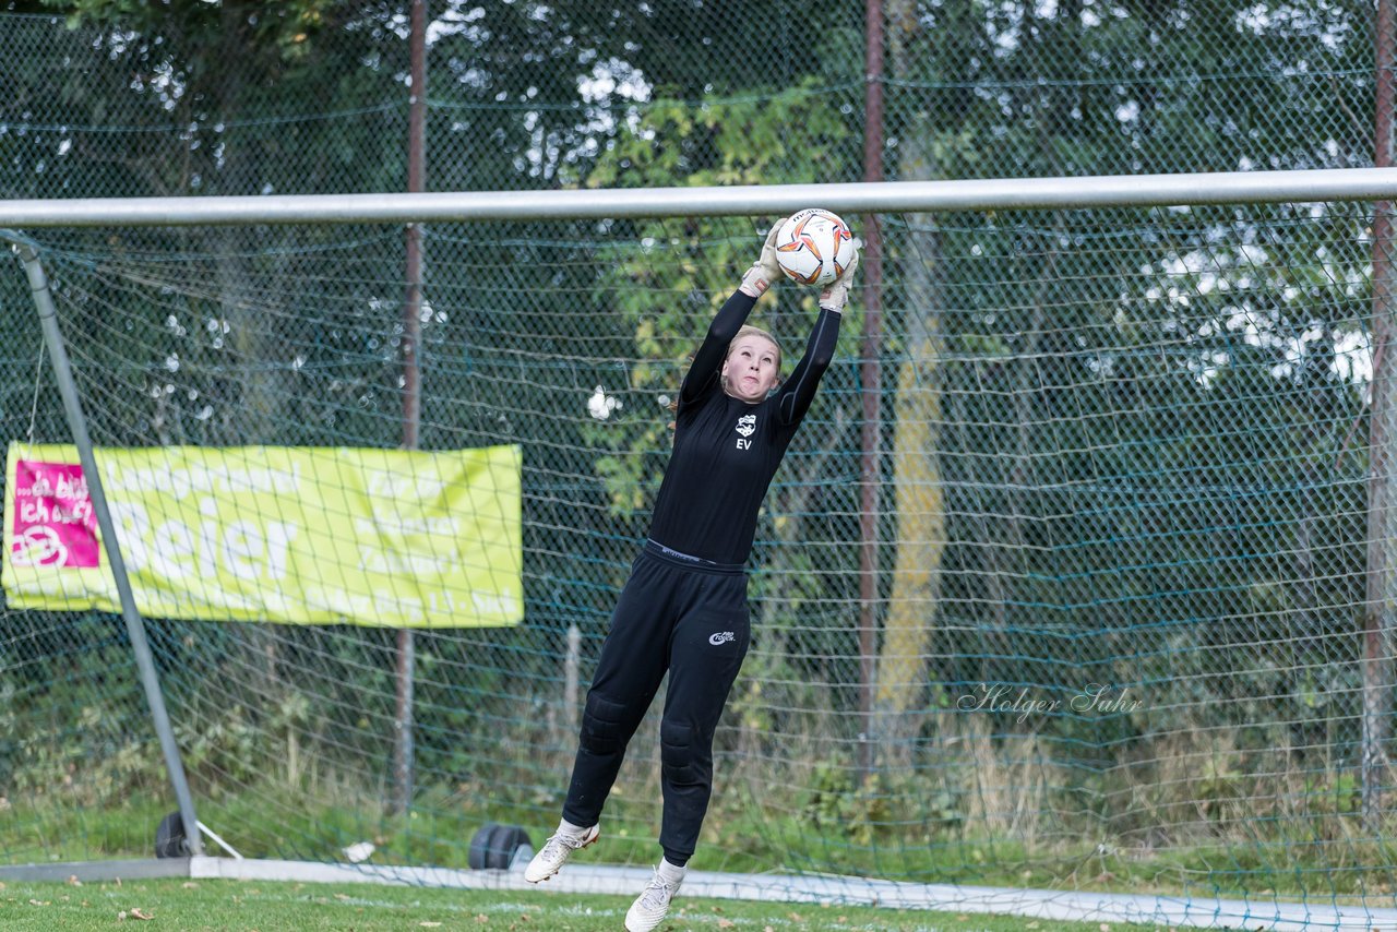
M787 214L810 204L848 212L956 212L1393 198L1397 198L1397 168L1355 168L733 187L10 200L0 201L0 226L411 224L696 214L750 217Z

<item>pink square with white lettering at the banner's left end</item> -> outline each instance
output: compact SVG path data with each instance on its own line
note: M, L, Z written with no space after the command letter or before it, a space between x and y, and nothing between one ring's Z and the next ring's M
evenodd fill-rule
M18 460L14 566L98 566L99 544L82 467Z

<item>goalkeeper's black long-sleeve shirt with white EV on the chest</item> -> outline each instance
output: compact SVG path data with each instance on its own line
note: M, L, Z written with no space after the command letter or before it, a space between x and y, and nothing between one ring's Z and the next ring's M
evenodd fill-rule
M752 553L761 500L840 335L840 314L820 309L791 377L767 400L747 404L722 390L719 373L756 302L735 292L694 355L679 391L675 446L650 528L652 541L715 563L746 563Z

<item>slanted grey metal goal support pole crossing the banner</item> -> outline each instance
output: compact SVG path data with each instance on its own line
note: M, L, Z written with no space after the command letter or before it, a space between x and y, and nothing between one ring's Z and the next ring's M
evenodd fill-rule
M106 493L102 490L102 478L96 468L96 457L92 453L92 439L88 436L87 418L82 414L82 404L78 400L77 384L73 381L73 366L68 362L68 352L59 331L57 309L53 306L53 295L49 293L49 279L43 272L43 263L39 253L20 240L13 233L0 231L0 239L14 243L14 252L24 263L29 275L29 291L34 293L34 306L39 312L39 324L43 327L43 342L49 349L49 365L59 383L59 394L63 397L63 412L73 432L73 442L78 449L78 461L82 464L82 476L87 479L88 496L92 500L92 513L96 516L98 527L102 531L102 548L106 551L108 565L116 580L116 592L122 602L122 618L126 620L126 632L131 639L131 653L136 654L136 667L140 671L141 686L145 687L145 700L151 706L151 718L155 721L155 734L161 739L161 750L165 755L165 767L169 771L170 785L175 788L175 798L179 801L180 820L184 823L184 840L193 855L203 855L204 845L198 834L198 817L194 815L194 798L189 792L189 781L184 778L184 763L179 756L179 745L175 743L175 729L170 727L169 713L165 708L165 696L161 693L159 676L155 672L155 660L151 655L149 641L145 639L145 622L136 608L136 595L131 591L131 580L126 574L126 560L122 559L122 548L116 538L116 524L112 521L112 511L108 509Z

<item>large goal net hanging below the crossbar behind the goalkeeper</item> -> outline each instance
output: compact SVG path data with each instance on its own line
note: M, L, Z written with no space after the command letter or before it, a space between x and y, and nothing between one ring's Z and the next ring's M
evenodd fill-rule
M380 868L542 843L668 405L773 219L433 224L419 306L397 226L25 233L200 822ZM761 513L693 866L1393 907L1373 207L877 231ZM77 460L18 264L0 295L0 859L148 857L165 763L82 516L52 527ZM788 369L814 313L754 312ZM659 857L658 704L592 864Z

